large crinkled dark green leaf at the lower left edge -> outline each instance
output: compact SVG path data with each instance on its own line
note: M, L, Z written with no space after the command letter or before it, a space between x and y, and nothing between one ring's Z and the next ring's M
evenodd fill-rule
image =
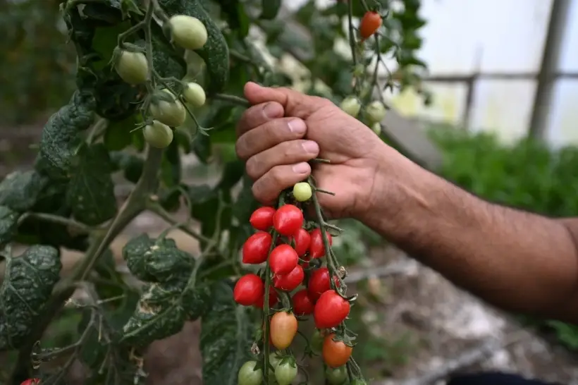
M18 257L7 256L0 309L6 319L2 337L11 348L19 348L30 334L32 323L42 314L43 305L60 279L61 268L59 250L47 245L31 246Z

